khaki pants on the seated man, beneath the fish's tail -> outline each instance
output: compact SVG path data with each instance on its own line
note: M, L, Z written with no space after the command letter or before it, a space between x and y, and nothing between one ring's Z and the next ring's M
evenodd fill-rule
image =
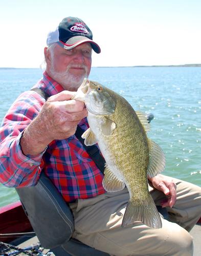
M177 184L177 200L173 208L167 208L169 221L162 219L161 229L149 228L141 222L121 227L129 199L124 188L72 203L73 237L111 255L192 255L193 243L188 231L201 215L201 188L173 180ZM164 194L151 186L149 189L155 204L160 205Z

